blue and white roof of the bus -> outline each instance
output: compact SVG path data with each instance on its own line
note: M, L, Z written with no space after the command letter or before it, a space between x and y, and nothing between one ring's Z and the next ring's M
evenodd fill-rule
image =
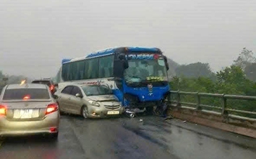
M160 50L158 49L158 47L112 47L104 50L95 51L94 53L90 53L89 55L81 58L65 58L61 61L61 64L77 61L77 60L83 60L85 58L94 58L94 57L99 57L104 55L111 55L111 54L114 54L114 51L116 49L121 49L121 48L126 49L127 52L140 52L140 51L156 52Z

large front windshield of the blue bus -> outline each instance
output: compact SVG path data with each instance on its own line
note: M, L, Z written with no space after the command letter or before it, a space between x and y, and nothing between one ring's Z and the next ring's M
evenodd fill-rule
M163 59L128 60L129 68L124 71L126 83L167 81L167 70Z

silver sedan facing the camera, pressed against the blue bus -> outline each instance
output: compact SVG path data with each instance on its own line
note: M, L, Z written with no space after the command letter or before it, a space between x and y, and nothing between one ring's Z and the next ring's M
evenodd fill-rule
M103 85L70 84L55 94L60 111L84 118L113 117L124 112L111 88Z

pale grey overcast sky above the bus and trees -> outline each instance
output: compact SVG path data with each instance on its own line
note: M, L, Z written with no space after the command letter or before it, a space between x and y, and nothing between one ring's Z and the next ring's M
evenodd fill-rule
M54 76L62 58L150 46L179 64L231 65L256 54L255 0L1 0L0 70Z

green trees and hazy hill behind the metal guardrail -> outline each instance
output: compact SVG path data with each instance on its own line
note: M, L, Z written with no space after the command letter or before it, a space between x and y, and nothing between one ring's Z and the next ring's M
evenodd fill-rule
M216 73L208 63L179 65L175 73L170 82L173 91L256 96L256 58L245 47L232 65ZM182 100L195 103L196 97L185 96ZM201 103L221 106L221 99L204 98ZM228 100L228 107L256 112L256 101Z

